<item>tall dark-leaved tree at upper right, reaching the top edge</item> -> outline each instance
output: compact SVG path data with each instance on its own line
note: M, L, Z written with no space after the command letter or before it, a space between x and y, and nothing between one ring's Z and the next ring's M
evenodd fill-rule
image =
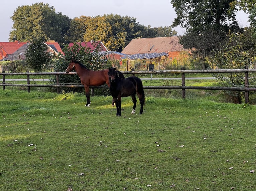
M235 18L237 2L234 0L170 0L177 17L172 26L186 29L180 37L184 48L192 49L192 55L199 69L209 67L207 57L219 51L226 43L229 31L239 32L241 29Z

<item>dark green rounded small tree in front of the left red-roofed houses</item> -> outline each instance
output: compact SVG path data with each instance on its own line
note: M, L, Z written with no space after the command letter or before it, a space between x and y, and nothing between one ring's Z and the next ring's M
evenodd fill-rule
M26 63L35 72L42 72L52 59L47 52L47 46L40 40L35 40L28 46L25 56Z

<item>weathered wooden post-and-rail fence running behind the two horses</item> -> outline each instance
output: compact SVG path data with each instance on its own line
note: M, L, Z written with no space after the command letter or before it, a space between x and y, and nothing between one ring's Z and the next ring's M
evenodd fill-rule
M249 92L256 91L256 88L249 88L249 73L255 73L256 69L232 69L232 70L159 70L159 71L125 71L123 74L181 74L181 86L143 86L144 89L181 89L182 97L185 98L185 90L224 90L224 91L244 91L245 92L245 103L249 103ZM188 73L244 73L244 87L205 87L205 86L185 86L185 74ZM55 87L59 93L60 87L68 88L83 88L83 85L65 85L59 84L59 75L75 75L76 72L70 72L66 74L65 72L43 72L43 73L5 73L2 72L0 75L3 76L3 83L0 86L3 86L5 90L6 86L18 86L18 87L27 87L27 91L30 92L30 87ZM7 84L5 81L6 75L26 75L27 84ZM30 84L30 75L55 75L56 84ZM90 87L90 88L108 88L108 86L99 86L99 87Z

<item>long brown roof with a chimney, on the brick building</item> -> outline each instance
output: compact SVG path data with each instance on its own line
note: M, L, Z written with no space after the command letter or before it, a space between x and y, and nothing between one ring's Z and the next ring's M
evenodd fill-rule
M178 37L157 37L133 39L121 53L124 54L143 54L188 51L179 44Z

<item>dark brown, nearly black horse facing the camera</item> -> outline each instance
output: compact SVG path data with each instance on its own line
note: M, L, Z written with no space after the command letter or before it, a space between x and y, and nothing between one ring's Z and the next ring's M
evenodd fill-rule
M143 90L142 81L136 77L131 76L125 79L118 77L116 68L109 68L108 71L110 81L110 93L116 102L116 116L121 116L121 97L132 96L133 109L132 114L135 113L136 108L136 94L140 100L140 112L143 113L143 105L145 105L145 94Z

